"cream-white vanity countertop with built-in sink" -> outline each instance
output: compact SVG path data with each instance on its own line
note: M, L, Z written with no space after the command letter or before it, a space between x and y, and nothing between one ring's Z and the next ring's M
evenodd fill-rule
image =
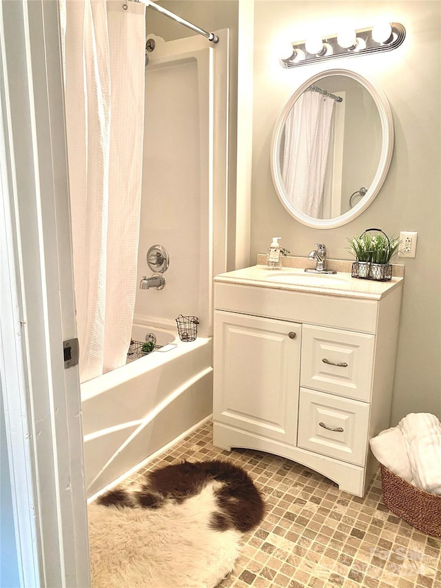
M283 267L281 270L268 270L266 265L252 265L243 270L234 270L214 277L216 283L233 283L247 286L294 290L326 296L347 296L380 300L391 290L402 285L404 278L393 277L389 281L353 278L350 273L310 274L301 267Z

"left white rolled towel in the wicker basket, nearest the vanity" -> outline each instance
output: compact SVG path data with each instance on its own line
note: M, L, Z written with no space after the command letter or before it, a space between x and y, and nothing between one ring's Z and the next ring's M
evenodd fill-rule
M391 427L369 440L374 456L393 474L413 484L413 475L406 443L398 427Z

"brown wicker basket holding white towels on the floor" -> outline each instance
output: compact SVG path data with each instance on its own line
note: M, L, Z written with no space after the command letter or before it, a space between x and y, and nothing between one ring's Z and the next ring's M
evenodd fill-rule
M381 466L384 504L419 531L441 537L441 495L429 494Z

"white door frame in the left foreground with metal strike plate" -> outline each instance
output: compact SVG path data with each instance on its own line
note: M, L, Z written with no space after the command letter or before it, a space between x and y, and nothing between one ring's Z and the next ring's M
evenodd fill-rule
M58 8L0 6L1 473L26 588L90 585Z

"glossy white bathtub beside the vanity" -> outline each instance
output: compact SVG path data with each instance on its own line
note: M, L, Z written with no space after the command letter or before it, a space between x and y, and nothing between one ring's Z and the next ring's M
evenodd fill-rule
M81 385L88 498L142 467L212 414L212 338L134 325L163 345Z

